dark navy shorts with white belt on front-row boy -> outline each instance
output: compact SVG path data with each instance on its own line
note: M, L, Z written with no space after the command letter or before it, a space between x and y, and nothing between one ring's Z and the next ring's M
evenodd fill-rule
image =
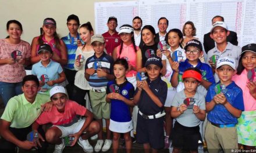
M163 116L155 119L144 119L138 114L136 137L137 143L149 143L151 148L162 149L165 146Z

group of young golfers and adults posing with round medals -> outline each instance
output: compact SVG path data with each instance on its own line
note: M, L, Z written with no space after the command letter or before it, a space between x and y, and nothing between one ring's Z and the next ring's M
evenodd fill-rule
M158 33L138 16L118 32L116 17L107 25L94 34L90 22L80 25L71 14L69 34L59 39L56 21L47 18L30 46L20 38L22 24L8 21L9 36L0 39L1 152L46 152L47 143L62 152L76 142L84 152L111 145L118 152L121 136L131 152L134 135L145 152L170 142L173 152L198 152L198 141L208 152L255 150L255 43L237 46L222 16L213 17L204 45L191 21L167 32L169 21L161 17ZM90 138L98 139L95 147Z

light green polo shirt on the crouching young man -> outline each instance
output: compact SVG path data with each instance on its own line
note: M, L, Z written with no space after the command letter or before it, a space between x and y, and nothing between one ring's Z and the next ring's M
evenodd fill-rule
M41 114L41 104L48 101L46 94L37 93L34 103L27 101L24 93L19 94L8 101L1 119L11 122L12 128L27 128Z

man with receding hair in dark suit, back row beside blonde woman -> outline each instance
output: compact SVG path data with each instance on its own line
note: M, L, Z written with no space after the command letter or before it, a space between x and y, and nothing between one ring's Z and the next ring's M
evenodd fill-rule
M169 25L169 21L165 17L161 17L158 20L158 28L159 32L155 35L155 42L158 43L159 41L168 41L167 35L167 28Z

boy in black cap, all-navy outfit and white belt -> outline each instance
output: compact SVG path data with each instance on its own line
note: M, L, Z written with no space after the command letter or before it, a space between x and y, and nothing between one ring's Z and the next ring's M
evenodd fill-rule
M163 134L163 105L167 96L166 82L160 71L163 67L159 57L150 57L145 63L147 80L137 81L134 104L138 105L137 142L143 143L145 152L157 152L165 146Z

